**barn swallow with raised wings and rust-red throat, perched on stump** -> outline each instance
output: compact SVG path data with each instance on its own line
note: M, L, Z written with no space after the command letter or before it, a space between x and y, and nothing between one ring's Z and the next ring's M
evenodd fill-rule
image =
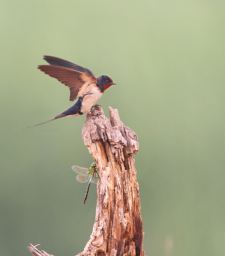
M76 98L78 100L71 108L55 116L55 118L37 125L42 125L65 116L78 116L84 113L91 114L90 110L93 104L96 103L107 88L115 84L107 75L101 75L96 78L89 69L70 61L51 56L44 56L44 60L50 65L40 65L38 69L69 87L70 101L74 101Z

